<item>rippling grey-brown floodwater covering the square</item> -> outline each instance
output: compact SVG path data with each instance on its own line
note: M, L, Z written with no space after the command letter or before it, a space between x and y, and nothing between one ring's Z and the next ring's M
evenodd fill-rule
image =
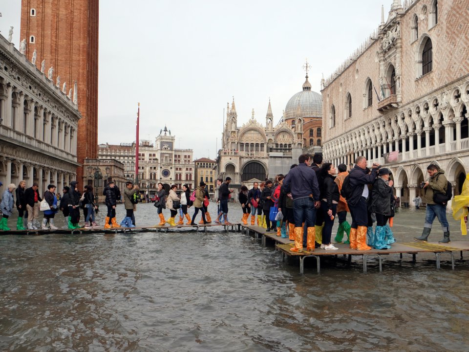
M138 224L157 222L138 207ZM418 231L425 210L401 214L408 240L399 226ZM0 351L468 351L467 260L394 256L363 274L321 259L300 275L273 247L215 231L8 235L0 248Z

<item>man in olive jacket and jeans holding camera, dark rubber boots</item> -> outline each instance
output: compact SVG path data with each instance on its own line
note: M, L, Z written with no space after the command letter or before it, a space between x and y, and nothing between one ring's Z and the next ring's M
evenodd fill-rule
M448 189L448 180L445 176L445 171L441 170L437 165L430 164L426 168L430 178L421 183L420 187L425 190L426 200L426 214L425 223L422 236L415 237L414 240L418 242L427 242L430 235L431 225L435 217L440 221L443 229L443 239L438 243L449 243L449 224L446 219L446 205L448 198L446 191ZM446 201L445 201L446 199Z

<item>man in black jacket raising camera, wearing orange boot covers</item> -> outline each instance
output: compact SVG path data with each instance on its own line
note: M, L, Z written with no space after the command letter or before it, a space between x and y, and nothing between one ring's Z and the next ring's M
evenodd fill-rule
M352 228L350 229L350 249L370 250L366 245L366 230L368 225L367 201L369 198L368 184L376 179L380 165L373 164L369 175L366 174L366 158L359 156L355 160L355 166L349 172L349 189L352 195L347 198L348 208L352 216Z

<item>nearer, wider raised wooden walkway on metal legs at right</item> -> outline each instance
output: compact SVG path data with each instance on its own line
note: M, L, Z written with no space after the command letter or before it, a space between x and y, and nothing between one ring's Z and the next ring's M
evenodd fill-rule
M367 262L369 258L377 258L379 261L380 272L383 271L383 256L389 254L399 254L402 259L403 254L411 254L412 261L416 261L416 255L418 253L434 253L436 259L436 268L440 269L441 255L448 255L451 259L451 267L454 270L454 255L453 252L460 252L461 259L463 257L463 251L469 251L469 241L455 241L448 244L438 242L396 242L391 245L390 249L371 249L367 251L359 251L350 249L348 244L334 243L338 250L325 250L316 248L314 251L306 251L303 248L303 252L292 252L290 249L293 248L294 242L288 238L281 238L277 236L275 232L265 232L265 229L259 226L242 225L243 229L246 230L247 235L253 235L255 239L261 240L262 245L266 245L268 240L275 242L275 247L282 253L282 259L285 261L285 256L298 257L299 259L299 272L304 273L304 260L306 258L315 258L317 263L317 271L320 273L320 257L321 256L348 256L348 260L351 260L352 256L361 256L363 264L363 272L367 272Z

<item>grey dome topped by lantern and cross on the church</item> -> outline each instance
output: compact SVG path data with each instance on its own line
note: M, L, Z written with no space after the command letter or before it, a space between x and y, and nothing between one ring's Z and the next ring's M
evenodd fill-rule
M284 120L297 117L322 118L322 95L311 90L308 75L303 90L290 98L283 115Z

